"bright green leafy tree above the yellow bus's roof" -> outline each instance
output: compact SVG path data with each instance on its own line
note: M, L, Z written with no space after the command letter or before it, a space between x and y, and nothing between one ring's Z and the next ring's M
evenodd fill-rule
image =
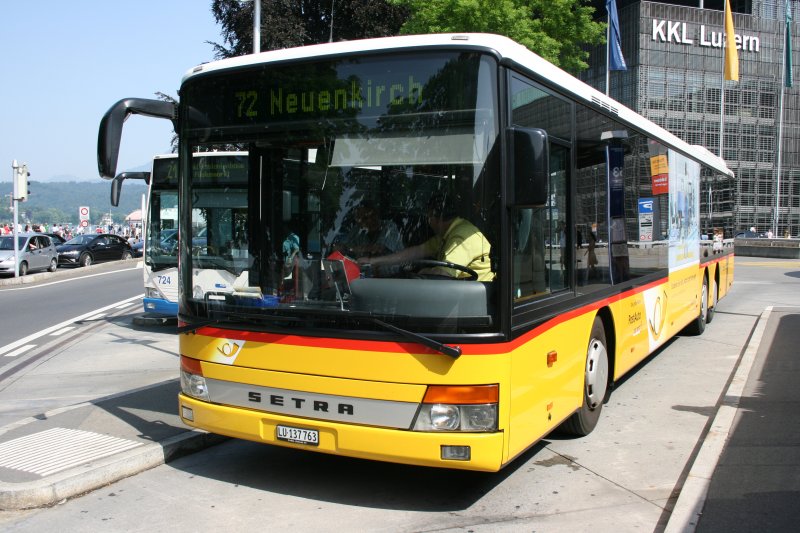
M401 32L505 35L551 63L576 73L587 68L583 45L605 40L586 0L393 0L409 9Z

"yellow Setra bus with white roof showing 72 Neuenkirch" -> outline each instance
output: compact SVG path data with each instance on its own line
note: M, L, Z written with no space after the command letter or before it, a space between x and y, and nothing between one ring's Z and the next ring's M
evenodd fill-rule
M179 240L207 228L180 249L179 409L213 433L497 471L591 432L733 282L732 248L701 235L725 163L504 37L200 65L177 105L109 109L105 177L130 113L173 121ZM245 151L246 175L197 175L213 149Z

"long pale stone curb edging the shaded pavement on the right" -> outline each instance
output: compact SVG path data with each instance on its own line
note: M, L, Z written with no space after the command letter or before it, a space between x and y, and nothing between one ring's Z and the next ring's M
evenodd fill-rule
M693 533L697 528L700 516L703 514L703 507L708 496L708 488L711 484L711 477L717 467L719 458L728 442L733 422L736 419L736 412L739 408L739 401L742 398L744 386L747 384L747 377L755 362L758 348L761 345L761 338L767 327L769 316L772 313L772 306L768 306L758 318L753 335L747 343L742 359L736 367L727 390L725 391L720 403L717 414L708 429L703 445L697 457L692 463L686 481L678 495L678 501L672 509L664 533Z

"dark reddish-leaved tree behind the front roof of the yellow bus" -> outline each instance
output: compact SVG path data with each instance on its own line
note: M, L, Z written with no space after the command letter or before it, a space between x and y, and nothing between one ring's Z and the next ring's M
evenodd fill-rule
M225 40L210 43L217 58L253 52L253 5L212 1ZM388 0L261 0L261 49L397 35L406 17L404 6Z

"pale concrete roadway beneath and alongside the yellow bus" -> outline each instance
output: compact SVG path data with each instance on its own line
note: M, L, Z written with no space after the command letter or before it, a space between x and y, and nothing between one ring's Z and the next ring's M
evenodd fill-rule
M702 336L674 339L619 383L591 435L550 436L498 474L231 440L53 508L0 513L0 524L6 531L661 531L758 317L766 306L796 306L799 296L800 262L738 259L734 289Z

